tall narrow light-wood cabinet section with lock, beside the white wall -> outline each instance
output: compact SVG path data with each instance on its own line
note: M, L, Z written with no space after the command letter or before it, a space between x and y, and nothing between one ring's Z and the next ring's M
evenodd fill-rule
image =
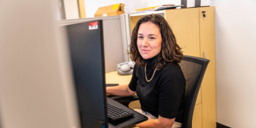
M205 11L205 18L202 11ZM210 60L202 82L203 127L216 127L215 15L214 7L200 7L201 57ZM205 54L204 54L205 53Z

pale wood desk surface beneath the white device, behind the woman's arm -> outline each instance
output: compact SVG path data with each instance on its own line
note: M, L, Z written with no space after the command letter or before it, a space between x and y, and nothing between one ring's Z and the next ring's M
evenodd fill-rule
M132 75L118 75L117 71L111 71L105 74L106 84L119 84L119 85L127 85L131 82ZM131 128L139 128L137 126Z

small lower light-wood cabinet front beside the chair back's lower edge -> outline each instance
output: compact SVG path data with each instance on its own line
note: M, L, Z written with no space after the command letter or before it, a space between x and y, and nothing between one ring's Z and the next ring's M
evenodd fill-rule
M192 127L202 128L202 103L195 106Z

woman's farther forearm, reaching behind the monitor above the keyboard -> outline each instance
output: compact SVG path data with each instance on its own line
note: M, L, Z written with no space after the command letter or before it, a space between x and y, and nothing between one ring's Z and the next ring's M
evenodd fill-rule
M130 90L128 85L106 87L106 91L107 94L120 96L129 96L134 95L136 93Z

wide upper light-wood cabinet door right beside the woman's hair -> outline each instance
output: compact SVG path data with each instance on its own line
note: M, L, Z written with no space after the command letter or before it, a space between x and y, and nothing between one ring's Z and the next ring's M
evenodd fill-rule
M165 10L165 19L185 55L200 57L198 8Z

